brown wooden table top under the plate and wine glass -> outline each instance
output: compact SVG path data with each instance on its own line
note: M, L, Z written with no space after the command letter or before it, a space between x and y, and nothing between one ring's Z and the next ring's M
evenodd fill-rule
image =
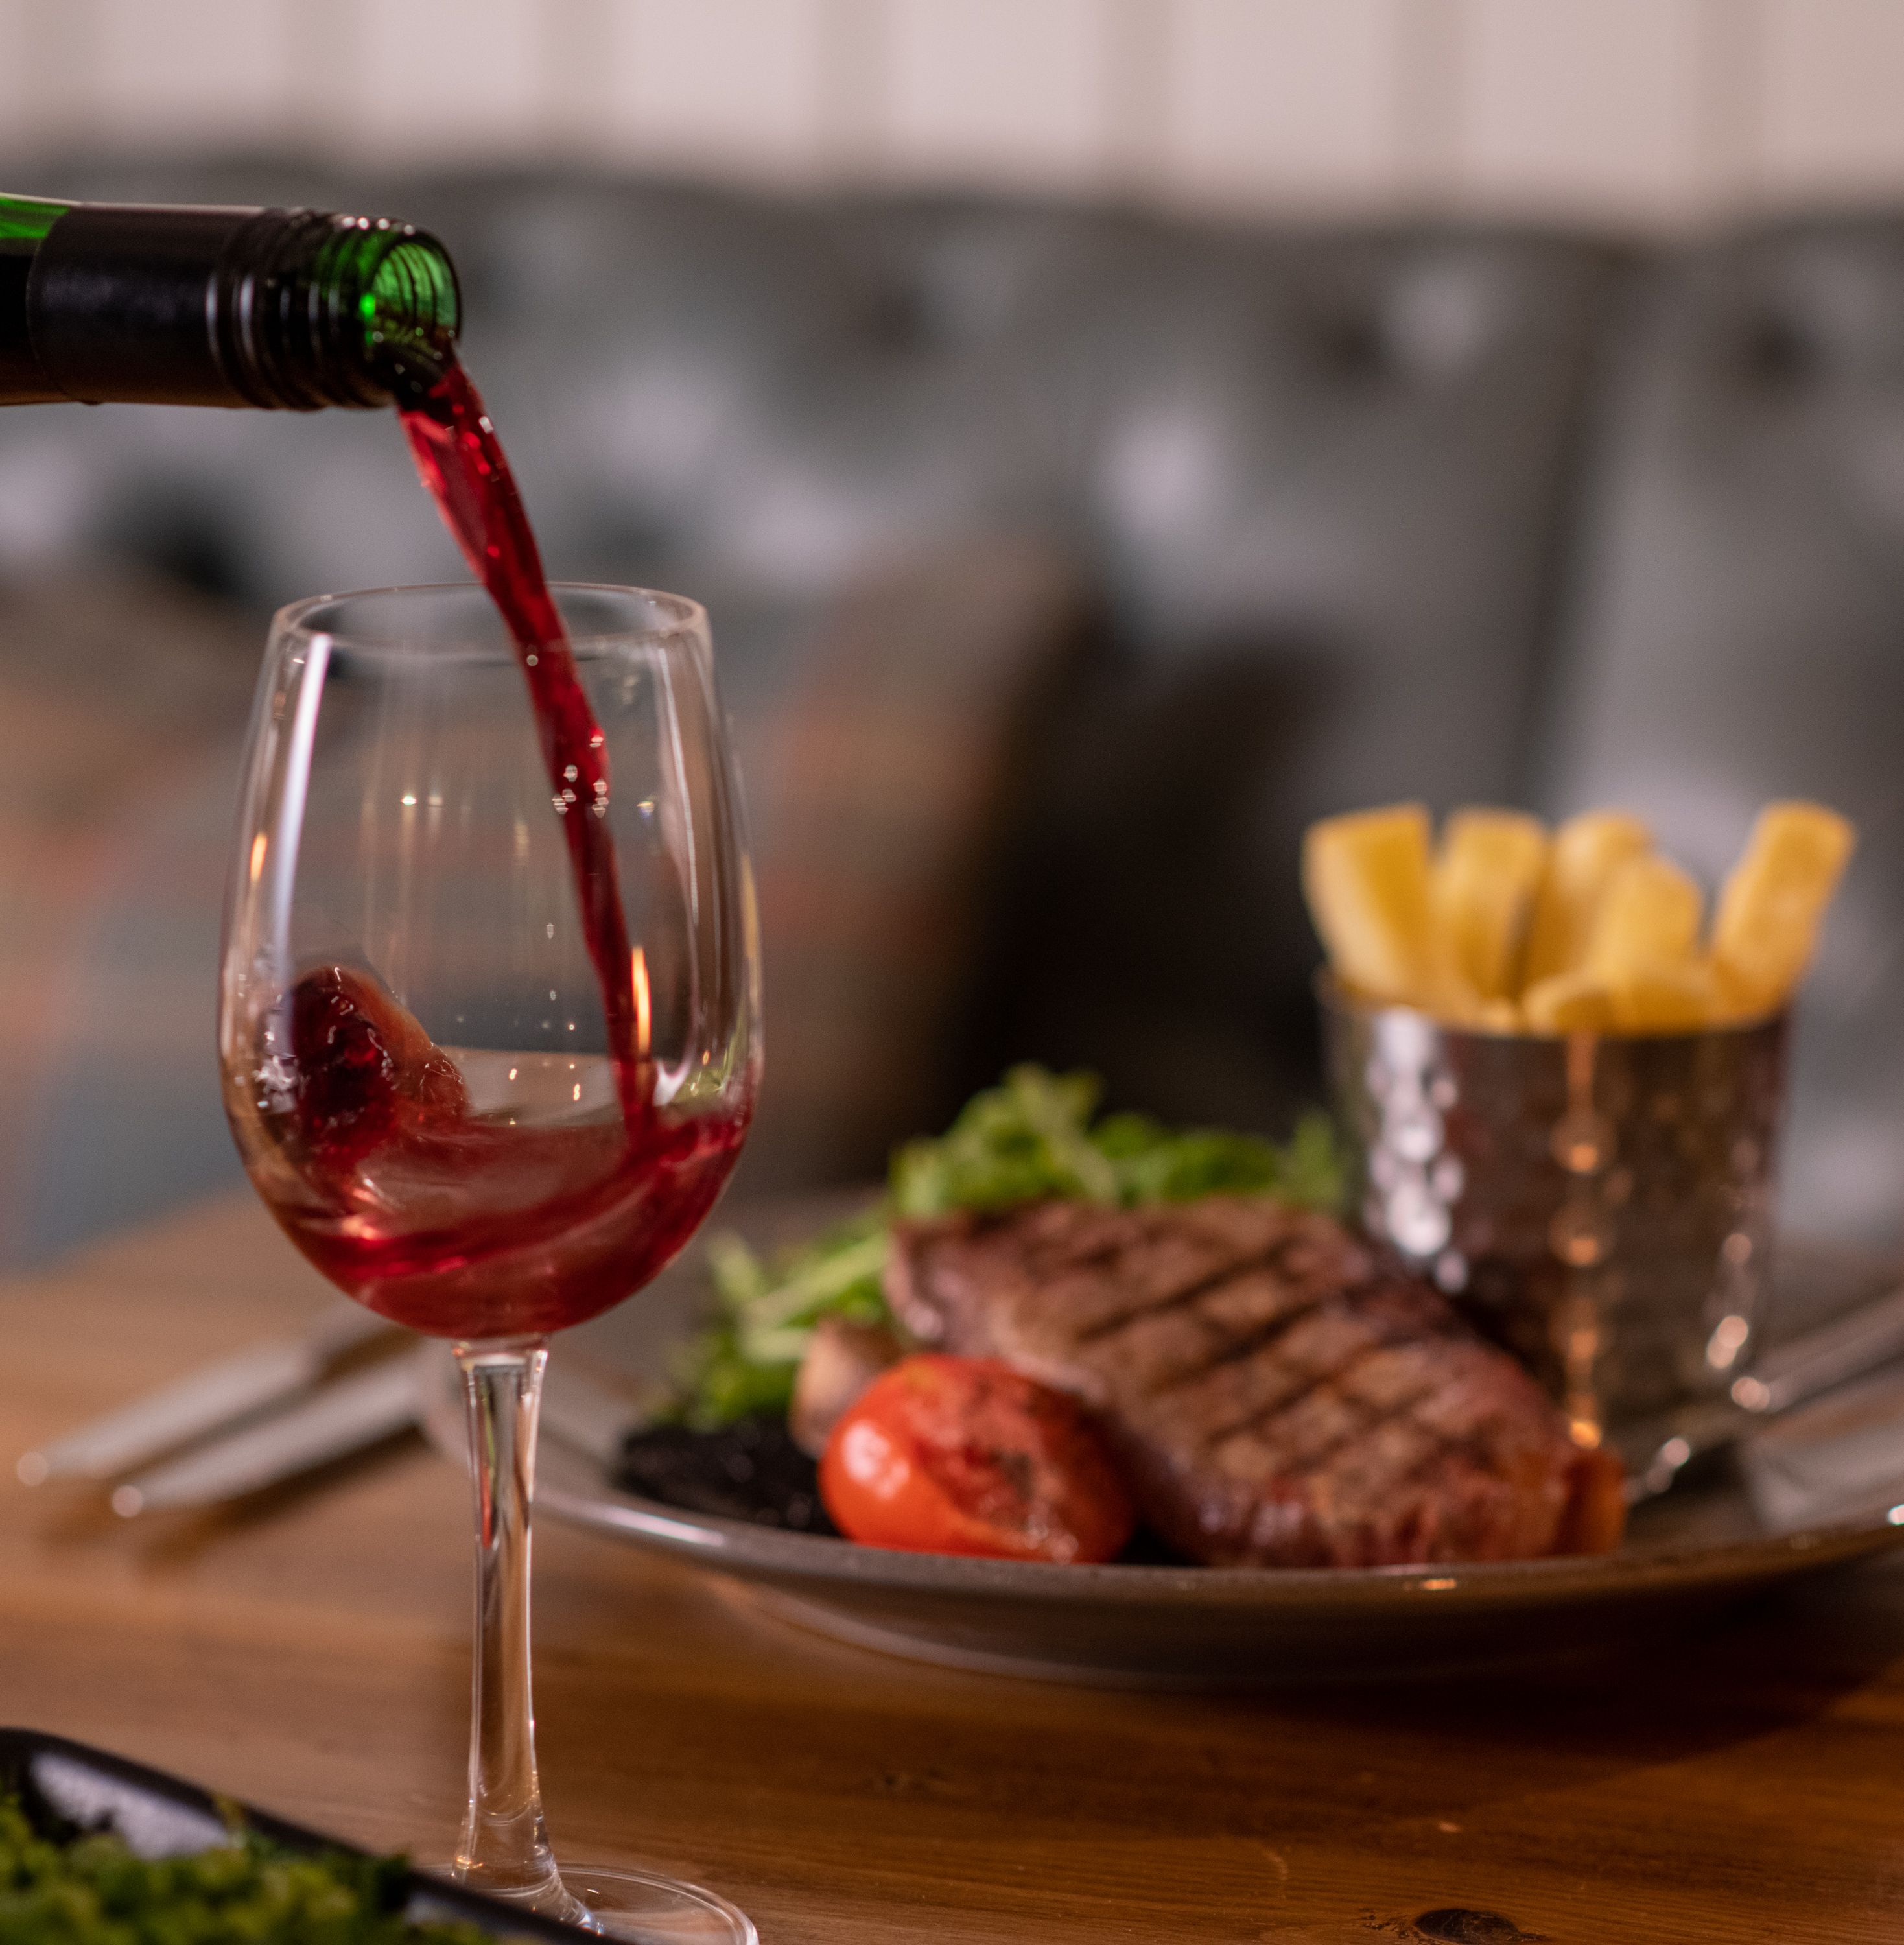
M0 1290L0 1719L441 1857L469 1682L449 1467L410 1443L138 1525L10 1476L323 1301L249 1202ZM718 1885L766 1945L1904 1937L1885 1566L1638 1669L1182 1696L889 1661L550 1523L537 1636L558 1846ZM1447 1908L1501 1916L1412 1924Z

